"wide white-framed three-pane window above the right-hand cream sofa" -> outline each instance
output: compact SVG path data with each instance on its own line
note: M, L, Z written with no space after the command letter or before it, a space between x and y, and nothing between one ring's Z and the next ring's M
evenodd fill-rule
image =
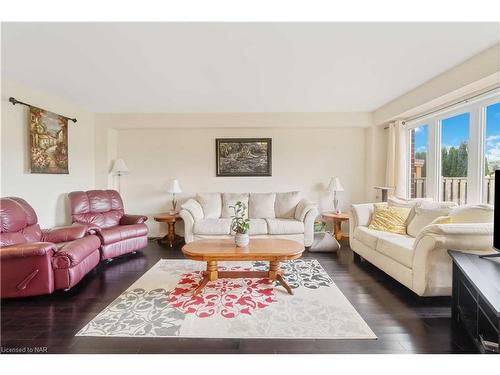
M408 196L493 204L500 169L498 92L407 123Z

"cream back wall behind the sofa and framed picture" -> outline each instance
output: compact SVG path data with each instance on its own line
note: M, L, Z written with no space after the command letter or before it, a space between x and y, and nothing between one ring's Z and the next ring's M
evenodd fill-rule
M103 137L116 137L115 141L100 140L103 145L115 148L106 153L123 158L131 170L130 175L122 177L121 183L126 211L149 216L168 211L170 197L166 188L171 178L181 183L181 200L200 191L301 190L304 196L320 205L320 211L327 211L333 209L333 203L331 194L325 189L330 177L335 175L340 177L346 190L340 196L344 210L350 202L365 201L366 119L352 127L347 127L344 121L328 122L328 125L316 123L314 127L300 124L284 127L274 121L277 126L244 128L234 127L234 124L245 125L255 116L265 124L273 115L269 114L266 121L265 114L232 114L233 127L207 127L207 122L198 122L204 125L195 127L186 119L197 116L183 115L183 122L188 125L179 127L176 126L178 122L172 121L171 114L97 115L97 132ZM208 123L224 126L226 114L220 114L219 121L213 118L216 114L211 116ZM304 115L297 117L300 116ZM331 120L331 116L328 118ZM103 138L97 133L96 137ZM224 137L272 138L272 177L216 177L215 138ZM110 162L103 164L107 167L102 169L109 170ZM107 176L98 176L97 180L107 186L112 184ZM148 225L152 235L166 230L152 218Z

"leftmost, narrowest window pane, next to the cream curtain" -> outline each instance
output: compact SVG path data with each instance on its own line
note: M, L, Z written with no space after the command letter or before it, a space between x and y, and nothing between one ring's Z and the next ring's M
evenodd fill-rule
M426 197L426 162L429 150L429 126L421 125L410 131L410 197Z

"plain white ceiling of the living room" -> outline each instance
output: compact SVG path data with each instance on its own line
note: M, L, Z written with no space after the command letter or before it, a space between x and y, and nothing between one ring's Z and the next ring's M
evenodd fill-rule
M498 23L4 23L2 77L94 112L364 112L499 40Z

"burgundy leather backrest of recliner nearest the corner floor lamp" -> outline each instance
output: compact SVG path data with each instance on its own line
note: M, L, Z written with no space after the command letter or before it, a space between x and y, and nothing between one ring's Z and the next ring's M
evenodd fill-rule
M73 222L100 228L118 225L123 216L123 201L116 190L73 191L68 194Z

